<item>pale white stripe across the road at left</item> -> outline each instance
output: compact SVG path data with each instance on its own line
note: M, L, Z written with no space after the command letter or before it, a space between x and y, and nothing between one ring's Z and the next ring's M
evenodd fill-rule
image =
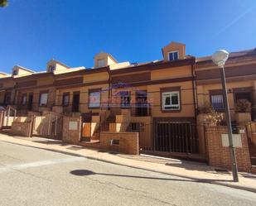
M17 165L5 165L5 166L0 166L0 174L10 170L25 170L27 168L33 168L33 167L39 167L39 166L45 166L45 165L56 165L56 164L75 162L75 161L81 161L81 160L85 160L85 157L73 157L68 159L52 159L52 160L28 162L28 163L17 164Z

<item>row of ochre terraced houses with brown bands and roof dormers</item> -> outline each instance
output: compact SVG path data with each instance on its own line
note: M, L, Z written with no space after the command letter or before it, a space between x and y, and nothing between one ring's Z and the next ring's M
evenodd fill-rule
M232 121L241 127L250 122L250 134L248 124L242 133L247 133L247 147L253 148L256 50L230 53L225 73ZM117 147L122 137L137 132L135 147L159 156L196 154L198 159L209 159L210 143L207 129L201 127L200 111L208 104L217 112L224 111L220 69L210 56L186 55L186 45L178 42L162 48L162 60L146 63L118 62L100 52L94 56L93 68L71 68L58 60L50 60L42 72L16 65L12 74L0 73L0 89L2 109L9 107L5 117L11 121L3 117L5 126L11 126L17 117L46 113L80 117L78 143L99 145L101 132L112 132L106 144ZM239 99L251 103L249 119L238 119L235 105ZM10 114L10 108L15 114ZM74 122L69 127L75 127ZM42 130L41 126L37 132ZM114 132L123 132L123 136L114 138ZM124 142L123 147L128 146L129 142Z

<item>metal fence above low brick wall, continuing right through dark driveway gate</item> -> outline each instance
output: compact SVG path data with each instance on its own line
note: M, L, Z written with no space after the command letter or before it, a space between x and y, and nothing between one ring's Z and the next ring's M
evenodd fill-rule
M100 132L138 132L142 151L197 153L196 125L191 122L105 122Z

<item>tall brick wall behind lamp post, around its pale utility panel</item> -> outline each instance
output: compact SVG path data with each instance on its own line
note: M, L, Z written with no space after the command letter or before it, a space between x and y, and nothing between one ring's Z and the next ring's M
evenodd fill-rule
M239 127L239 130L244 127ZM209 165L231 169L229 147L222 146L221 134L227 133L227 127L206 127L205 140L208 151ZM242 147L235 148L239 171L251 170L248 140L245 133L241 133Z

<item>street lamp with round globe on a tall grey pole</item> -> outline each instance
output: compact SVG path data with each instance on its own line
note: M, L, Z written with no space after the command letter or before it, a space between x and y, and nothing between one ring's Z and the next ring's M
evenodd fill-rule
M212 61L215 65L220 67L220 75L221 75L221 84L222 84L222 93L223 93L223 100L225 106L225 118L228 127L228 135L229 135L229 149L230 149L230 156L232 162L232 173L233 173L233 180L234 182L239 181L238 169L235 159L235 150L232 138L232 126L231 126L231 119L230 119L230 112L229 112L229 103L227 98L227 88L226 88L226 80L225 80L225 61L228 60L229 53L226 50L217 50L215 54L212 55Z

